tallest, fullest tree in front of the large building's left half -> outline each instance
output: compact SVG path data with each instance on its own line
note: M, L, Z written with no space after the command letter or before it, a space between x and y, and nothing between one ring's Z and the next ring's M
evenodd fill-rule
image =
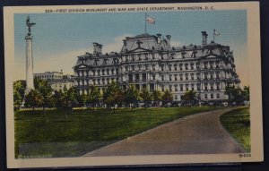
M108 84L108 87L104 90L103 100L109 107L114 107L115 113L116 105L121 105L124 101L123 90L117 82L112 81Z

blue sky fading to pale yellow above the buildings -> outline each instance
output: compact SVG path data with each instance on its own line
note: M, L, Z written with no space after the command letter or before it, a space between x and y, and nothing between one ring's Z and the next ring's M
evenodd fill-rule
M174 47L201 45L202 34L213 40L213 30L221 33L215 42L230 46L234 52L241 86L248 85L247 11L178 11L147 13L155 24L147 33L171 35ZM16 13L14 14L15 71L14 80L25 80L25 36L27 16L36 23L33 36L34 73L73 74L77 56L92 53L92 42L103 45L103 53L119 52L126 36L144 33L144 13Z

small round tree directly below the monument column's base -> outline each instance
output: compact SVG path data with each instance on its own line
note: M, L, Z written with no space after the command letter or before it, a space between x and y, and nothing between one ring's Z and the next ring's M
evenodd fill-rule
M25 96L25 106L31 107L32 111L35 111L35 107L39 107L42 104L43 97L37 90L30 90Z

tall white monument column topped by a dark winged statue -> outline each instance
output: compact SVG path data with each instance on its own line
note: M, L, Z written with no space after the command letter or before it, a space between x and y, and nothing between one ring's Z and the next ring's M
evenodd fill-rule
M30 16L26 20L28 27L28 33L25 36L26 40L26 89L25 94L28 94L30 90L34 90L33 83L33 59L32 59L32 36L30 35L30 28L36 23L30 22Z

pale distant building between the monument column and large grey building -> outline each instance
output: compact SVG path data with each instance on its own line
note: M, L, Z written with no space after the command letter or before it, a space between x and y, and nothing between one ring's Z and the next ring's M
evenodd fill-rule
M62 72L34 73L34 77L48 81L53 90L69 90L74 86L74 76Z

